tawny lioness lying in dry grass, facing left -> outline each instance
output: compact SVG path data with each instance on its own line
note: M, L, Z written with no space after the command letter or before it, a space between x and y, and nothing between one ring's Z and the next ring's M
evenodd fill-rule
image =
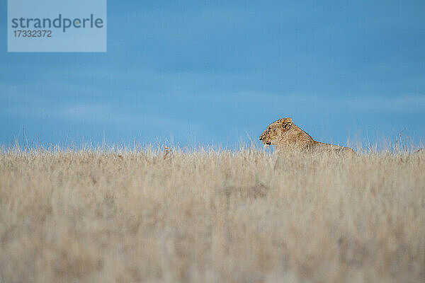
M291 118L282 118L268 125L267 129L261 134L260 141L264 145L275 145L280 149L293 149L312 153L335 152L344 155L356 155L356 151L353 151L349 147L314 141L309 134L293 124Z

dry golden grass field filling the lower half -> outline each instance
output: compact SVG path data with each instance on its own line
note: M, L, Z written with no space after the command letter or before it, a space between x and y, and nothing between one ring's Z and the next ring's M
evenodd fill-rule
M425 154L8 149L0 282L425 282Z

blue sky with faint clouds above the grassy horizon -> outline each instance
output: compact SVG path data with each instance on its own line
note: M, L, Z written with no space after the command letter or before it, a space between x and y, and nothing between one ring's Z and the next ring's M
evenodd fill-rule
M425 137L424 1L108 1L108 52L8 53L0 144Z

